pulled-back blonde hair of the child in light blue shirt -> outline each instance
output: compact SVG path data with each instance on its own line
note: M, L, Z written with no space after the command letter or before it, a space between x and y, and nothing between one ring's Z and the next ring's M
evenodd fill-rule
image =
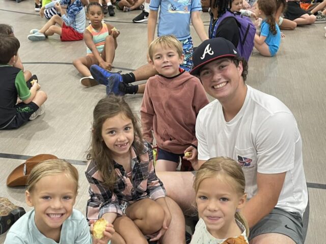
M32 192L36 183L43 177L48 175L56 175L65 173L76 186L76 193L78 190L78 171L77 169L65 160L50 159L37 164L32 170L27 181L26 190Z

